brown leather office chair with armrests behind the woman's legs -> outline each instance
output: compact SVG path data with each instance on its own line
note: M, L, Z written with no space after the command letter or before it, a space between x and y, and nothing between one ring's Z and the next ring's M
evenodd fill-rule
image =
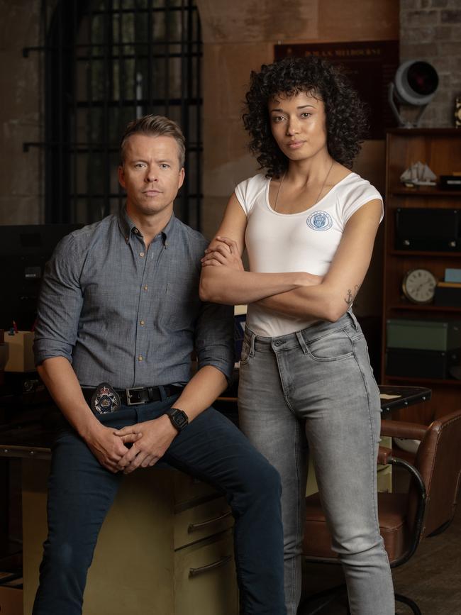
M407 493L379 493L379 526L391 567L404 564L415 553L422 538L435 536L452 521L457 503L461 475L461 410L436 419L431 425L401 421L382 421L382 436L421 440L414 465L394 458L392 451L379 448L378 462L404 467L410 472ZM303 552L307 562L335 563L331 537L318 494L306 498L306 526ZM301 604L299 615L323 612L340 589L309 597ZM323 599L321 607L318 599ZM396 600L421 615L413 600L396 594ZM309 610L311 604L316 609ZM325 611L327 612L327 611ZM349 611L348 611L349 612Z

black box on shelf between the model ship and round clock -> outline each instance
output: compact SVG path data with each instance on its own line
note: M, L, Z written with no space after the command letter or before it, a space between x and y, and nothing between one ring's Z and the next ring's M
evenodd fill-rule
M397 250L461 251L461 209L396 209Z

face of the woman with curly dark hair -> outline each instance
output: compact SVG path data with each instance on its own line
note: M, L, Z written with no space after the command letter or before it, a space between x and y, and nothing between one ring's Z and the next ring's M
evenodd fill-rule
M270 99L268 110L272 135L289 160L327 152L325 107L320 97L280 93Z

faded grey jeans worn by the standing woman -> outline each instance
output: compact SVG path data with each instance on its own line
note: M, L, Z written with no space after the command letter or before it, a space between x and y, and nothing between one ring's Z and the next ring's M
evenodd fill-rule
M393 615L392 577L379 535L379 389L352 312L277 338L245 332L240 427L282 477L285 599L301 594L307 456L348 584L352 615Z

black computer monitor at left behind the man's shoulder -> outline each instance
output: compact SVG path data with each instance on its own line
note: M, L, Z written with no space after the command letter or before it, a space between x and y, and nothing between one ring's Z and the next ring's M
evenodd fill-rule
M0 328L30 331L45 262L57 243L82 224L0 225Z

